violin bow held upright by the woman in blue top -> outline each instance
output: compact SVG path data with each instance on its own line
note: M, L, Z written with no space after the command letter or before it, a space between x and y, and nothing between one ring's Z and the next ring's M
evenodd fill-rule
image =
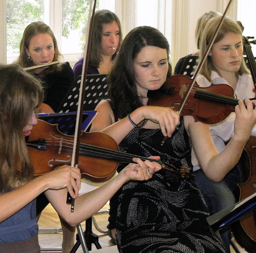
M73 145L73 152L72 152L72 159L71 159L72 167L78 167L79 147L80 147L80 139L81 139L81 135L79 133L82 131L82 116L83 116L84 94L85 94L85 86L86 86L86 73L87 73L88 61L89 61L90 43L92 39L92 27L93 27L96 2L97 1L94 0L94 6L92 10L92 0L90 1L90 11L89 11L89 18L88 18L88 25L87 25L89 29L87 29L87 32L86 32L86 44L85 44L86 54L84 56L84 61L83 61L82 77L81 77L80 92L79 92L79 99L78 99L76 128L74 133L74 145ZM71 198L69 193L67 196L67 203L71 203L70 211L74 212L75 200Z

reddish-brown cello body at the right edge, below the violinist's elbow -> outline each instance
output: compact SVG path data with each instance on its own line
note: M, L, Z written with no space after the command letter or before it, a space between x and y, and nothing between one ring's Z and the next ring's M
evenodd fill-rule
M256 137L251 136L240 159L243 183L238 184L239 200L256 192ZM252 209L232 224L233 235L248 253L256 253L256 213Z

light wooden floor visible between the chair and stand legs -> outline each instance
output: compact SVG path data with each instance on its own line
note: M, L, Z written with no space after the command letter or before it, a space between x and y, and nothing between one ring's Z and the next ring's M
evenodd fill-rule
M103 207L103 209L108 209L108 204ZM106 231L106 225L108 224L108 213L101 213L98 215L94 215L97 225L100 229ZM50 228L60 228L60 220L56 211L49 204L44 211L38 221L38 225L40 229L50 229ZM85 222L81 224L83 230L85 229ZM106 234L100 233L94 225L92 225L92 232L98 235L98 241L102 250L100 252L118 252L116 247L111 247L114 244L110 240L110 237ZM61 244L62 244L62 232L59 233L39 233L39 243L41 246L41 252L61 252ZM239 245L238 245L239 247ZM46 250L47 249L47 250ZM49 250L48 250L49 249ZM58 249L57 251L54 249ZM96 250L96 246L92 244L92 252ZM230 247L231 253L235 253L234 249ZM246 253L241 247L239 247L241 253ZM97 251L96 251L97 252ZM82 247L80 246L76 253L83 253Z

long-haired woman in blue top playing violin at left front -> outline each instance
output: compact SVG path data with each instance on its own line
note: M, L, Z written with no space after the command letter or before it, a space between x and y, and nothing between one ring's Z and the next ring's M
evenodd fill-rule
M148 180L161 169L156 162L136 158L104 186L80 196L78 168L62 165L34 177L25 136L37 124L34 110L42 100L42 85L31 74L17 65L0 65L0 252L40 253L35 200L40 193L76 226L96 213L123 183ZM76 198L73 213L66 204L67 191Z

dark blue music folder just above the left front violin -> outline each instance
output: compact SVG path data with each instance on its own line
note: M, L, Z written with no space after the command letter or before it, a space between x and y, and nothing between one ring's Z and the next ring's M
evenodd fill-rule
M82 116L82 130L86 129L95 118L96 111L83 111ZM44 120L50 124L58 124L58 129L65 134L74 135L76 128L77 112L70 113L53 113L53 114L38 114L38 119Z

